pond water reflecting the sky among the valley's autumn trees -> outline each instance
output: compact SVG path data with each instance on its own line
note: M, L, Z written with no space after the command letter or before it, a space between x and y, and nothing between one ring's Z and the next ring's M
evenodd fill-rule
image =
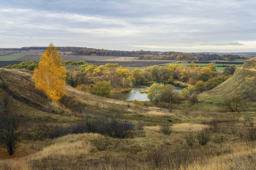
M162 83L160 83L162 84ZM138 100L138 101L149 101L148 99L148 94L147 93L140 93L141 90L148 90L148 88L150 88L150 86L153 85L153 83L149 84L149 83L133 83L132 84L132 90L130 90L129 92L125 93L125 95L127 96L127 101L134 101L134 100ZM181 88L180 86L174 86L176 88L177 92L182 92L183 88Z

